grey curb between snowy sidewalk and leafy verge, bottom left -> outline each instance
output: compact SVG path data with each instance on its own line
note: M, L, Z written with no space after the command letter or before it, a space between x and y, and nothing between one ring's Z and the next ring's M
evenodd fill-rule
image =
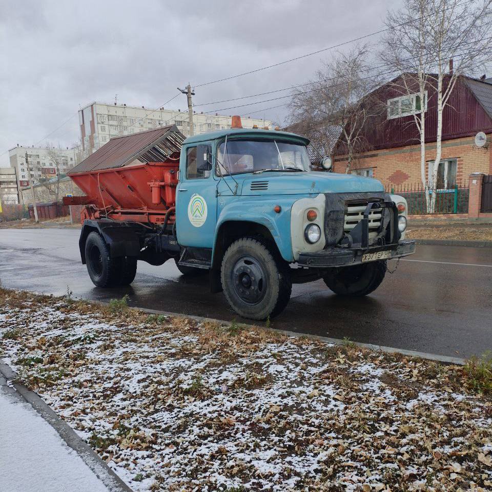
M0 359L0 374L10 382L15 391L24 398L35 411L43 417L58 433L69 447L84 461L84 463L93 471L96 477L106 485L111 492L133 492L133 490L122 481L115 471L113 471L97 453L81 439L75 430L61 419L36 393L28 389L23 384L15 382L17 374L12 368Z

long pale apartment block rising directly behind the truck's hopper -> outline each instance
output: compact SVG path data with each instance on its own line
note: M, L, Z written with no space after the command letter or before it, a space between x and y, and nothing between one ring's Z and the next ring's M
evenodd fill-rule
M106 144L111 137L128 135L159 126L177 125L185 136L190 133L188 111L127 106L126 104L91 103L79 110L80 140L83 152L91 154ZM194 133L231 128L231 116L194 113ZM264 119L242 118L244 128L270 127L272 122Z

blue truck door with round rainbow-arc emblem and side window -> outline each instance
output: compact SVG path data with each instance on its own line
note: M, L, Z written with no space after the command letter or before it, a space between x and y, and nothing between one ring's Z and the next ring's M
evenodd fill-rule
M213 247L217 197L211 154L209 142L189 144L181 150L176 190L176 235L182 246Z

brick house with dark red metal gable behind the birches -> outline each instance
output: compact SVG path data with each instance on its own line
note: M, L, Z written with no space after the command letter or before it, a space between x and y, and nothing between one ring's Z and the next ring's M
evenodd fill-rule
M352 163L352 173L373 176L387 187L421 182L420 137L414 112L420 111L420 97L397 88L398 78L377 89L371 100L381 101L381 111L362 129L364 151ZM417 92L417 91L416 91ZM442 160L438 180L445 187L465 182L470 173L492 174L492 145L475 145L475 136L492 137L492 78L460 77L443 111ZM429 86L425 113L426 161L436 152L437 95ZM345 172L346 150L334 151L334 171ZM428 176L428 166L426 175ZM444 186L444 185L441 185Z

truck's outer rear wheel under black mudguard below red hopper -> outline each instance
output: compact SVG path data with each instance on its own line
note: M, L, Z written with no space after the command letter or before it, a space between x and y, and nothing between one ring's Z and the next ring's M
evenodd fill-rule
M111 258L108 245L95 231L86 239L86 266L97 287L114 287L121 283L122 259Z

